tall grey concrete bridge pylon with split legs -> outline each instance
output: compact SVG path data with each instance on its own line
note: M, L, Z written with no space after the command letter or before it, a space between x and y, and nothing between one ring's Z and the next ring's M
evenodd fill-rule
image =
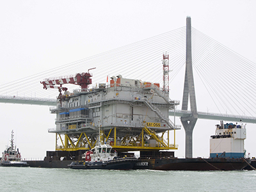
M188 100L189 99L189 100ZM181 117L181 123L186 133L186 158L193 157L193 129L198 119L196 109L195 85L193 79L192 53L191 53L191 18L186 20L186 72L182 99L182 110L188 110L188 101L190 101L191 114Z

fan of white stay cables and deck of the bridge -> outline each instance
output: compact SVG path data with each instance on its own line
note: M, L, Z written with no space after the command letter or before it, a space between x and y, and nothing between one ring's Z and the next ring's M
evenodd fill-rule
M43 90L40 81L45 77L70 77L77 72L93 70L93 86L105 83L107 76L122 74L131 79L162 83L163 52L170 55L170 97L182 98L184 71L187 71L188 26L153 36L134 44L125 45L83 60L67 63L60 67L38 72L32 76L17 79L0 86L0 102L55 106L56 90ZM187 105L187 109L170 111L170 115L232 120L256 123L255 64L236 52L216 42L209 36L191 28L191 66L195 79L195 96L198 110ZM186 69L185 69L186 68ZM188 76L189 77L189 76ZM186 82L186 81L185 81ZM188 81L190 82L190 81ZM189 87L189 86L188 86ZM77 86L68 86L69 90ZM192 94L188 88L188 97ZM199 98L199 99L198 99ZM184 100L184 97L183 97ZM205 106L211 111L205 113ZM190 103L191 105L191 103ZM189 109L189 107L191 109ZM194 110L194 111L193 111ZM187 152L186 152L187 153ZM188 157L191 155L189 154Z

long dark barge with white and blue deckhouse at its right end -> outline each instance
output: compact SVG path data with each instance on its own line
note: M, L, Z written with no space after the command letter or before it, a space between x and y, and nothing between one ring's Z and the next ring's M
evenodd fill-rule
M182 159L174 157L174 152L172 151L141 150L140 158L138 158L133 169L190 171L255 170L255 159L252 159L252 163L251 159L244 159L245 139L245 125L223 124L221 121L220 125L216 125L215 134L210 139L210 158ZM88 152L47 152L47 157L45 157L44 161L27 162L33 167L68 168L68 164L72 163L90 163L91 158ZM100 156L103 155L100 154ZM134 153L131 152L119 152L115 155L119 157L134 157Z

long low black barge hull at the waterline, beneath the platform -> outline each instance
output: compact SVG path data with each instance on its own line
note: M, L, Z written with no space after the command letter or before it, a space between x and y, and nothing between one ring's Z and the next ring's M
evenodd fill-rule
M247 161L247 163L246 163ZM31 167L40 168L68 168L72 160L51 160L51 161L27 161ZM207 170L242 170L250 163L250 159L139 159L135 164L134 170L188 170L188 171L207 171Z

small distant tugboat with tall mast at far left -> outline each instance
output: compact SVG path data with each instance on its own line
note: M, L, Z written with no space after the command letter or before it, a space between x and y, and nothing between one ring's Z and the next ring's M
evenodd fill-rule
M16 146L14 147L14 134L12 130L11 134L11 146L6 146L4 152L2 152L2 159L0 161L0 166L29 166L26 161L21 161L21 156L19 152L19 148L16 150Z

